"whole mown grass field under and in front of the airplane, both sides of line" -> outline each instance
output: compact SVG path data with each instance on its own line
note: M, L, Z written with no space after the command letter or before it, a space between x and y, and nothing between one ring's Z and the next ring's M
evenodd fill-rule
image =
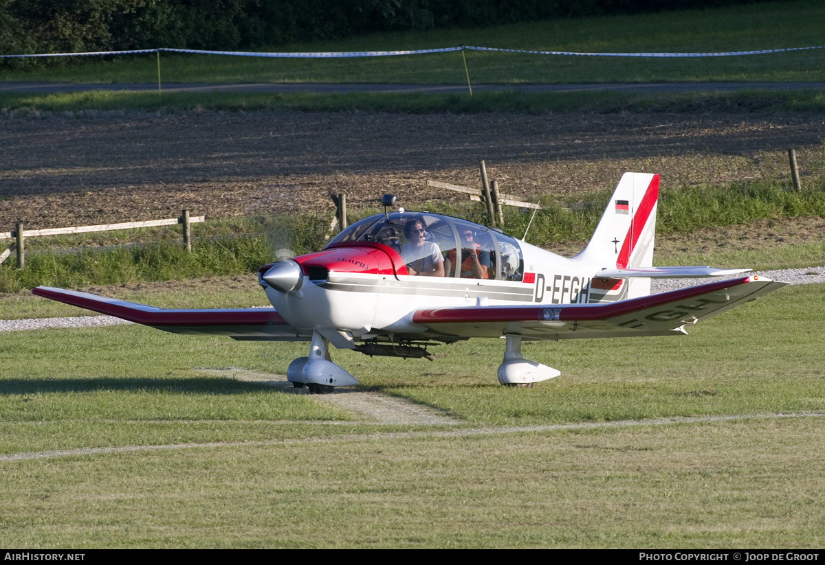
M282 373L299 344L0 334L0 543L821 547L825 420L770 414L823 413L823 291L782 289L684 338L536 343L526 354L563 375L530 390L495 383L497 340L436 362L334 353L449 427L370 423L194 368ZM745 418L657 419L728 415Z

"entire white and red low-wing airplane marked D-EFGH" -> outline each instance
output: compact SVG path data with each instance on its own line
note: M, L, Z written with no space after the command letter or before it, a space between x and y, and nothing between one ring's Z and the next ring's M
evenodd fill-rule
M559 371L521 355L521 341L686 334L695 324L786 283L749 276L650 294L651 278L750 269L653 267L658 175L626 173L587 247L572 259L501 231L430 212L384 212L343 230L318 253L263 266L275 310L165 310L37 287L41 297L176 334L309 341L287 378L313 393L356 385L329 344L367 355L428 357L428 345L505 338L502 385ZM394 205L386 195L384 206Z

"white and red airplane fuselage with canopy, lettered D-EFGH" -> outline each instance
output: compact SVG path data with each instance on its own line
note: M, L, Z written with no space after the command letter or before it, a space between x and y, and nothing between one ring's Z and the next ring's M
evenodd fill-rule
M299 280L289 284L267 284L263 277L271 265L261 269L272 305L295 328L338 329L354 339L426 337L426 329L412 319L421 309L585 304L620 299L625 290L620 280L595 278L615 264L568 259L429 212L365 218L324 250L291 261L299 266ZM441 261L443 276L429 276L441 272L433 261Z

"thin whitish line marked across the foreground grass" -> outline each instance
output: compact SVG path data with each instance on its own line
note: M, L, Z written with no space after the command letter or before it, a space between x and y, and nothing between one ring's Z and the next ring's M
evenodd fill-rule
M825 412L805 412L805 413L769 413L769 414L741 414L728 416L699 416L695 418L653 418L649 420L619 420L616 422L597 423L568 423L568 424L548 424L544 426L502 426L502 427L477 427L468 429L453 430L431 430L422 432L372 432L363 434L345 434L335 437L301 437L288 440L270 441L210 441L206 443L174 443L165 446L116 446L116 447L82 447L71 450L55 451L31 451L28 453L12 453L0 455L0 461L22 461L31 459L54 459L57 457L74 457L78 455L105 455L109 453L128 453L133 451L158 451L172 449L197 449L204 447L238 447L238 446L289 446L304 445L308 442L314 443L341 443L342 441L383 441L394 439L408 439L418 437L472 437L472 436L492 436L506 433L535 433L535 432L558 432L565 430L592 430L610 427L639 427L639 426L667 426L672 424L691 424L709 422L736 422L747 419L768 419L768 418L821 418Z

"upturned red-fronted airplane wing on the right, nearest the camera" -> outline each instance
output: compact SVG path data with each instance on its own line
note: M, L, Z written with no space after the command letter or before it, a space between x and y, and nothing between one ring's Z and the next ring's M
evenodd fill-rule
M467 306L419 310L413 322L442 335L526 339L620 338L686 334L695 324L788 283L736 278L609 304Z

